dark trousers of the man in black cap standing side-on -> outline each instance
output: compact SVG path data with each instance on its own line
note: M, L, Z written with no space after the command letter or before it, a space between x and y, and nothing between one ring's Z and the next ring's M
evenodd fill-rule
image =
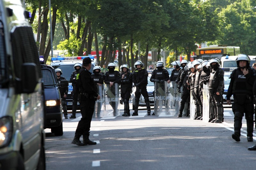
M76 128L76 135L88 135L91 128L92 115L94 112L95 100L85 99L80 101L81 120Z

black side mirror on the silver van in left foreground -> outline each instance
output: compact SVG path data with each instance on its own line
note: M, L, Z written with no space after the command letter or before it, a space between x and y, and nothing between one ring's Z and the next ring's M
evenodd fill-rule
M21 66L22 92L33 93L38 84L38 75L35 63L23 63Z

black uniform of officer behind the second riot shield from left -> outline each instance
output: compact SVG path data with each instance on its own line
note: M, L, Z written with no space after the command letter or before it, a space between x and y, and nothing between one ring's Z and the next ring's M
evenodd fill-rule
M110 82L113 82L115 84L118 82L119 77L120 77L119 71L109 70L105 73L104 83L109 85ZM107 94L108 93L112 93L114 94L114 96L119 97L119 90L117 90L116 92L114 85L110 87L110 92L107 92ZM117 104L118 104L117 101L112 101L109 95L107 97L109 99L109 104L113 108L113 113L116 113Z

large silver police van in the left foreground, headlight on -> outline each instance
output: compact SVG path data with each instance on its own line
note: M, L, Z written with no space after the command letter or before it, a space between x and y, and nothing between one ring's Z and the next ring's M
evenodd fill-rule
M41 66L20 0L0 0L0 169L45 169Z

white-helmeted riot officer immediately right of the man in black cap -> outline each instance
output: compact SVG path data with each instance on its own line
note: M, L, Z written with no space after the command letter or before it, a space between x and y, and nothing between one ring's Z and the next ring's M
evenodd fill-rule
M100 74L101 68L100 66L94 66L92 69L92 78L94 83L97 86L98 93L101 94L101 98L103 98L103 91L104 91L104 74ZM101 92L100 92L101 91ZM100 111L101 111L101 106L102 106L102 99L101 100L96 100L95 102L95 112L97 117L100 116Z

